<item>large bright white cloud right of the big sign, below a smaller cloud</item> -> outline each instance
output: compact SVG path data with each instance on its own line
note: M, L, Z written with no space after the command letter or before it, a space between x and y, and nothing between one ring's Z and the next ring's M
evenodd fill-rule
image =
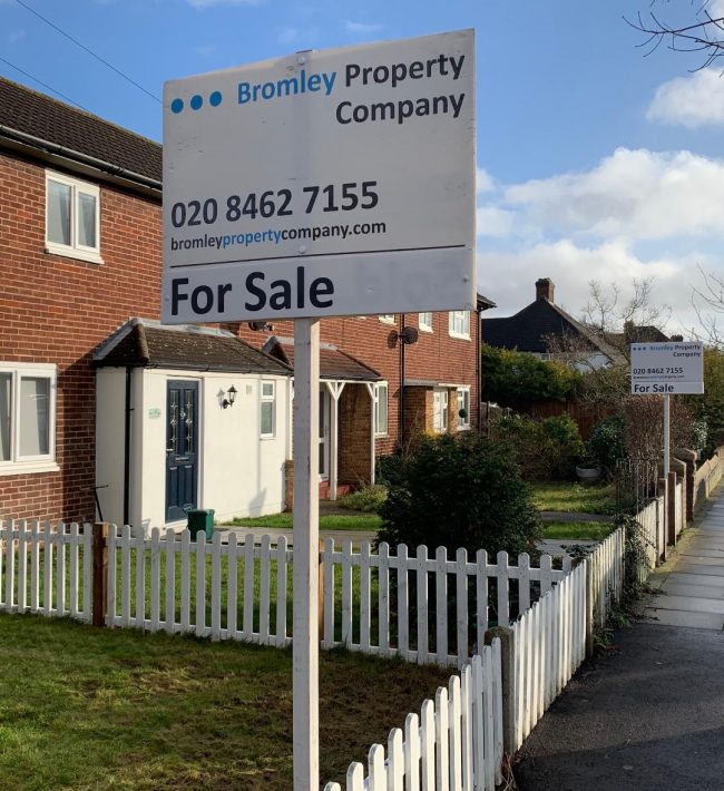
M724 160L617 149L597 167L515 185L502 207L548 234L623 240L724 236Z

